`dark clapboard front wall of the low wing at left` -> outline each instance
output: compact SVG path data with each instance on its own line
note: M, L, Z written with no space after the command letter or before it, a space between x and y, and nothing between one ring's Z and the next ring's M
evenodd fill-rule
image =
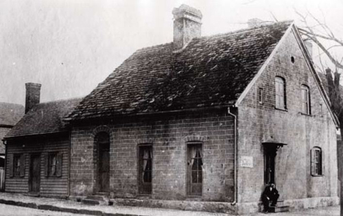
M45 176L45 154L62 153L62 176ZM30 155L40 154L40 195L67 196L69 191L69 136L47 136L45 139L14 139L7 145L6 163L13 160L14 154L25 154L25 176L10 177L9 166L6 166L5 191L16 193L29 192Z

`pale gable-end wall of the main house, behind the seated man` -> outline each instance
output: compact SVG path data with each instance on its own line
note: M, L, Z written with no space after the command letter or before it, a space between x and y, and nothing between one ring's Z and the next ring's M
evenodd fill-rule
M294 57L294 63L291 58ZM287 110L275 108L275 76L285 79ZM310 88L311 115L301 111L300 86ZM257 97L263 88L263 104ZM263 183L263 146L268 139L287 146L276 156L276 187L281 200L337 196L336 130L303 53L291 32L239 106L238 156L253 167L238 167L238 202L258 202ZM310 149L322 149L323 176L311 176ZM240 164L240 163L239 163Z

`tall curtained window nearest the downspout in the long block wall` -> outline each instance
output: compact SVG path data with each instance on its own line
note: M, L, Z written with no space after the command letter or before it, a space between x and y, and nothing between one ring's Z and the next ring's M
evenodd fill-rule
M188 195L202 195L202 144L187 145Z

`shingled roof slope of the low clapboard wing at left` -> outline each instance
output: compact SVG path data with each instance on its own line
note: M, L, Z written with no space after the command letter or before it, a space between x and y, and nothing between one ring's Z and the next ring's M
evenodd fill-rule
M81 100L82 98L78 98L37 104L25 114L21 121L14 125L12 130L6 134L5 139L67 131L67 124L63 119Z

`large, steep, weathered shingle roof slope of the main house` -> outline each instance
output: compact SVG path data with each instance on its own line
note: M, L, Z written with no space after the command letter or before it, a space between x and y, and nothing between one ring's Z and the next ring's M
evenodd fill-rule
M99 84L69 119L110 117L233 103L291 23L139 49Z

